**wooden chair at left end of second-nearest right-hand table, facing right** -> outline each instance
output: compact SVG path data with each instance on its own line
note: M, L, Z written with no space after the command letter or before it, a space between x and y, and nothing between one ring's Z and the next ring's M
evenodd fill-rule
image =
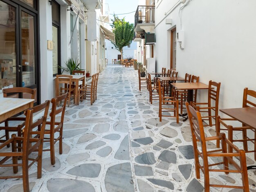
M179 123L179 101L175 97L164 96L164 87L161 87L160 80L158 80L159 86L159 121L162 121L163 117L176 117L176 122ZM163 112L173 112L173 115L162 114Z

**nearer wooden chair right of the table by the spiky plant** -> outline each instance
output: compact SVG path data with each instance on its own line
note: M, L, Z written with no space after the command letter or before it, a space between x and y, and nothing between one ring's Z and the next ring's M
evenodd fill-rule
M90 98L91 105L94 103L96 81L97 74L93 74L91 83L79 89L81 101L83 101L83 99Z

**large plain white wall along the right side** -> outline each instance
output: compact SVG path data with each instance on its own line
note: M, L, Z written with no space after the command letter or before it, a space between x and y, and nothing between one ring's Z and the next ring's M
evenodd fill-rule
M184 49L177 48L179 76L189 73L200 76L203 83L221 82L219 108L241 107L243 89L256 90L256 22L252 22L256 1L192 0L180 17L181 4L168 12L178 0L159 2L155 13L157 70L170 68L170 29L176 26L185 34ZM165 18L171 18L172 25L166 25ZM200 95L206 100L206 91L199 91Z

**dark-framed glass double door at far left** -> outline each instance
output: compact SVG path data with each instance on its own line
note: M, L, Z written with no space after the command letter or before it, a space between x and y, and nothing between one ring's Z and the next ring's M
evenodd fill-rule
M36 1L15 2L0 0L0 92L10 87L36 89L39 103Z

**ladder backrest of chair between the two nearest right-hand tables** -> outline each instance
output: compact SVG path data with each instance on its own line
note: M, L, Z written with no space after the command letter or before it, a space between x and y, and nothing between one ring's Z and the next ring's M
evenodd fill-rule
M209 81L208 88L208 106L211 107L211 100L215 102L216 112L219 111L220 83Z

